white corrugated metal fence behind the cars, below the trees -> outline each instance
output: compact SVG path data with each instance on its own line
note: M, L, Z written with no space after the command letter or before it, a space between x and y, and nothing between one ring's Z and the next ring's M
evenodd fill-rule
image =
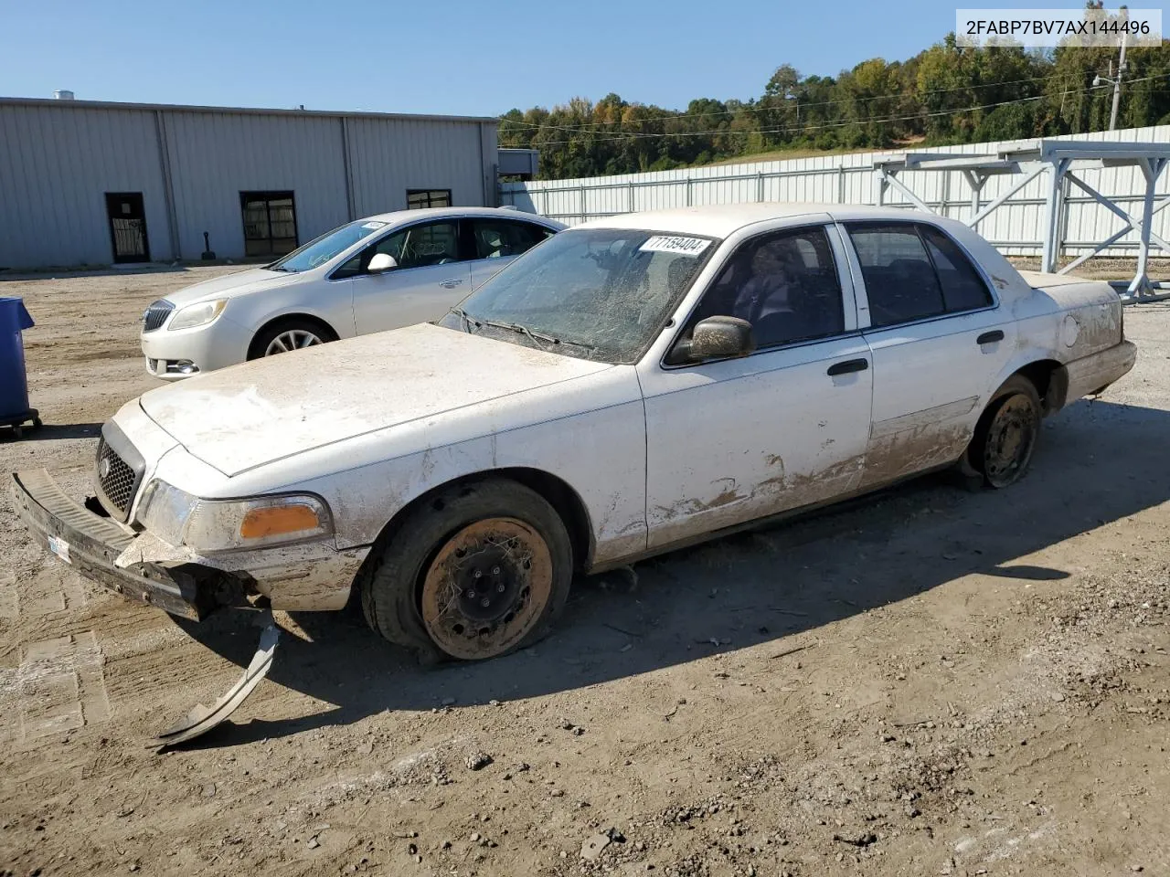
M1073 140L1170 143L1170 125L1076 134ZM948 154L996 154L1003 146L1017 141L978 143L913 150ZM659 171L654 173L597 177L548 182L507 182L501 186L503 203L541 213L574 225L585 219L608 216L632 210L738 201L808 201L827 203L875 203L873 164L882 158L900 156L904 150L858 152L762 161L741 165ZM1145 180L1137 167L1080 168L1073 172L1097 192L1117 198L1129 213L1140 215ZM958 171L903 171L899 179L936 212L952 219L970 219L971 187ZM993 177L982 191L982 202L994 200L1019 181L1019 177ZM1039 255L1044 237L1045 175L1032 180L1011 200L979 225L979 233L1009 255ZM1067 186L1067 184L1066 184ZM1163 173L1158 193L1170 192L1170 172ZM1066 188L1067 255L1093 249L1120 230L1122 222L1080 189ZM886 203L909 206L896 189L888 189ZM1170 237L1170 210L1155 216L1155 233ZM1104 255L1134 255L1136 232L1121 239Z

